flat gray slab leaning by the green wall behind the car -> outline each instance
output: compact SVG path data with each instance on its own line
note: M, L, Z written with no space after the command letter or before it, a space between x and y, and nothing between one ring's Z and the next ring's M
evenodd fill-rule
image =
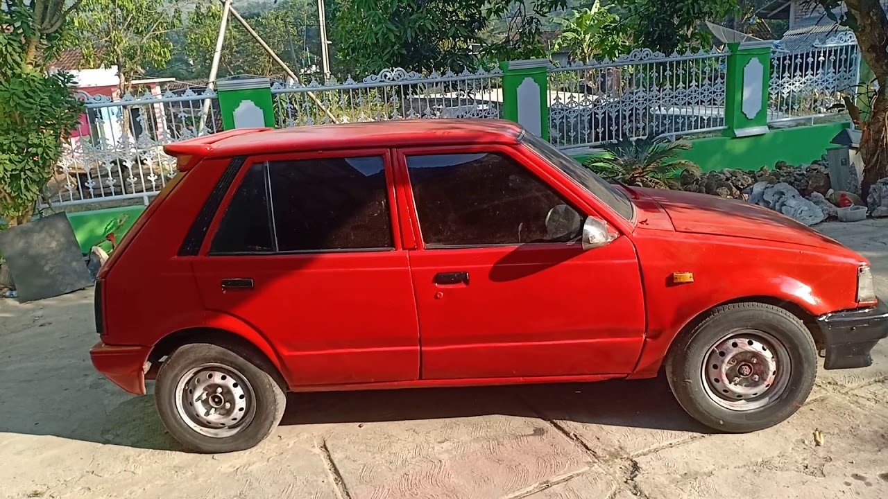
M0 253L15 276L20 303L92 285L74 229L64 213L0 232Z

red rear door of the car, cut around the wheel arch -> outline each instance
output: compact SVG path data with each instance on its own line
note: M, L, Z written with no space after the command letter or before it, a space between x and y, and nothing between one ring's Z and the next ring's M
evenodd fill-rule
M211 313L266 337L295 384L416 380L391 153L253 157L229 191L194 260Z

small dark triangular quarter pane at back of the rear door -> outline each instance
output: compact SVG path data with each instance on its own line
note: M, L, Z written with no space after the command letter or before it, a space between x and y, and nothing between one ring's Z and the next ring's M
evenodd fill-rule
M268 216L265 164L247 170L241 185L226 208L210 253L255 253L272 251Z

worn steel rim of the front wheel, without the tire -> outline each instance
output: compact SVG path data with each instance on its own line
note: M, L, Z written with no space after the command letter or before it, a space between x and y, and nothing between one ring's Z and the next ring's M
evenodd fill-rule
M743 412L781 397L789 385L792 362L786 346L773 335L739 329L710 346L701 373L710 400Z

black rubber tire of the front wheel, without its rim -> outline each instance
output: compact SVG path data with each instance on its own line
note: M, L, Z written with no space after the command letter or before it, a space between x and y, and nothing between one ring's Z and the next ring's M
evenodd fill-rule
M790 367L788 375L781 373L784 376L781 378L782 391L773 392L768 400L759 401L764 404L762 407L749 410L725 408L725 402L717 402L712 393L717 391L711 387L718 385L704 386L710 380L703 379L704 375L712 376L705 371L710 368L709 360L717 354L722 355L713 350L717 342L733 331L744 334L743 330L764 332L779 342L785 349L783 355L789 356ZM736 343L733 346L737 346ZM706 366L704 362L707 362ZM755 432L781 423L805 403L817 376L817 349L805 324L780 307L755 303L724 305L710 311L694 329L676 339L665 368L675 398L694 419L722 432ZM786 366L778 369L781 368ZM717 376L713 376L713 383L718 383ZM773 384L777 385L776 382ZM729 405L733 403L728 402ZM737 405L743 403L740 401Z

